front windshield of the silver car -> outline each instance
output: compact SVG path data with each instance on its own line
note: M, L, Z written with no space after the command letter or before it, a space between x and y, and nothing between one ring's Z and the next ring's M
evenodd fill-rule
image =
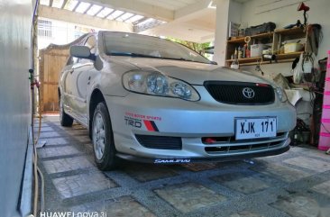
M126 32L105 32L104 40L106 55L211 63L184 45L156 37Z

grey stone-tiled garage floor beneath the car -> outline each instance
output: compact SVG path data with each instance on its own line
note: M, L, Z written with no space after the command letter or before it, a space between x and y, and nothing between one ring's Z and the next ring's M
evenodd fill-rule
M276 157L96 168L87 130L46 117L38 149L46 212L98 216L329 217L330 156L292 147ZM37 127L35 128L37 130ZM106 214L106 215L105 215ZM96 216L96 215L94 215Z

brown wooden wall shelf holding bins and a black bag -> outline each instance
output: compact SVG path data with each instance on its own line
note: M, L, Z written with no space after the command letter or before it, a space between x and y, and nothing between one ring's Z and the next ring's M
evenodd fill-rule
M307 30L307 31L306 31ZM250 45L257 44L257 43L266 43L271 47L271 54L276 55L276 62L289 62L293 59L296 59L300 56L300 54L304 51L312 52L313 47L313 39L308 37L308 30L303 28L292 28L292 29L276 29L274 32L266 32L257 35L252 35ZM235 38L232 40L227 41L227 48L226 48L226 60L225 65L230 66L234 59L231 59L231 56L234 54L234 50L238 47L243 47L245 44L244 41L245 37L242 38ZM280 53L280 46L284 41L300 41L300 43L304 44L304 50L298 52L290 52L290 53ZM317 50L313 50L317 52ZM244 58L238 59L238 62L241 66L249 66L249 65L256 65L258 61L261 61L261 57L253 57L253 58ZM262 61L262 64L267 64L270 61ZM275 61L272 61L275 63Z

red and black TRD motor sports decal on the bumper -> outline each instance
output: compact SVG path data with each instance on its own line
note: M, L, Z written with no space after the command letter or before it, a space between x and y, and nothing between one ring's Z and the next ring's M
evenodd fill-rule
M126 125L139 129L144 125L147 131L160 131L155 121L161 121L161 117L129 112L126 112L124 115Z

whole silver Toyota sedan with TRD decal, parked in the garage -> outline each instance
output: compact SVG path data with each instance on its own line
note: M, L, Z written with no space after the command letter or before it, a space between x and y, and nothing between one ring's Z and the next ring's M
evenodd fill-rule
M283 153L296 111L283 90L172 41L125 32L70 47L60 123L89 129L96 165L225 161Z

